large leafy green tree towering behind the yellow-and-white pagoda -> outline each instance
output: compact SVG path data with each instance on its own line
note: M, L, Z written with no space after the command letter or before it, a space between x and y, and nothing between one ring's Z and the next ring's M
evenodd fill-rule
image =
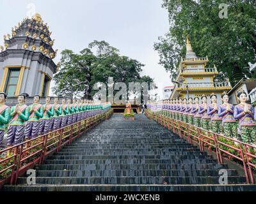
M228 5L228 18L221 19L221 3ZM234 85L248 72L248 62L256 56L256 1L254 0L163 0L168 10L170 31L159 37L154 48L160 64L176 77L180 57L186 54L186 35L197 55L208 56L220 75Z

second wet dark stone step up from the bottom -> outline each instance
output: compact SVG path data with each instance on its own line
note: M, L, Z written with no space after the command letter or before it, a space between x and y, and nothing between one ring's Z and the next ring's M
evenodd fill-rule
M36 177L37 184L219 184L220 177ZM17 184L26 184L20 177ZM228 177L228 184L245 182L245 177Z

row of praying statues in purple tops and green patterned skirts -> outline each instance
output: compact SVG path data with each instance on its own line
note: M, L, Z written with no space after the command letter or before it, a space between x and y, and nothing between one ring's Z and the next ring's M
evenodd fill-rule
M256 110L246 103L246 92L239 92L238 105L228 103L228 94L223 92L221 100L217 103L216 94L212 93L211 104L207 104L207 96L199 98L179 98L164 100L161 103L149 103L148 107L154 112L182 120L191 125L211 130L214 133L222 133L230 138L236 138L245 143L256 143ZM238 131L240 134L238 134Z

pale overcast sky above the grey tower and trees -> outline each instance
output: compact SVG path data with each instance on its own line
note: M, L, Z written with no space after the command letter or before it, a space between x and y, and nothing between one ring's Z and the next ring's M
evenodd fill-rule
M163 86L169 74L158 64L154 41L168 31L168 13L162 0L0 0L0 36L31 13L40 13L47 22L58 48L79 52L93 40L105 40L120 54L145 64L143 74ZM3 37L0 38L3 45ZM161 85L159 84L159 85Z

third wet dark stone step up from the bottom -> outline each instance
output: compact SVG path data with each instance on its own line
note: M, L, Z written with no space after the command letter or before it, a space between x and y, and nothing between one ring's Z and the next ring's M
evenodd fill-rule
M228 177L237 176L236 170L227 170ZM37 170L37 177L218 177L218 170Z

